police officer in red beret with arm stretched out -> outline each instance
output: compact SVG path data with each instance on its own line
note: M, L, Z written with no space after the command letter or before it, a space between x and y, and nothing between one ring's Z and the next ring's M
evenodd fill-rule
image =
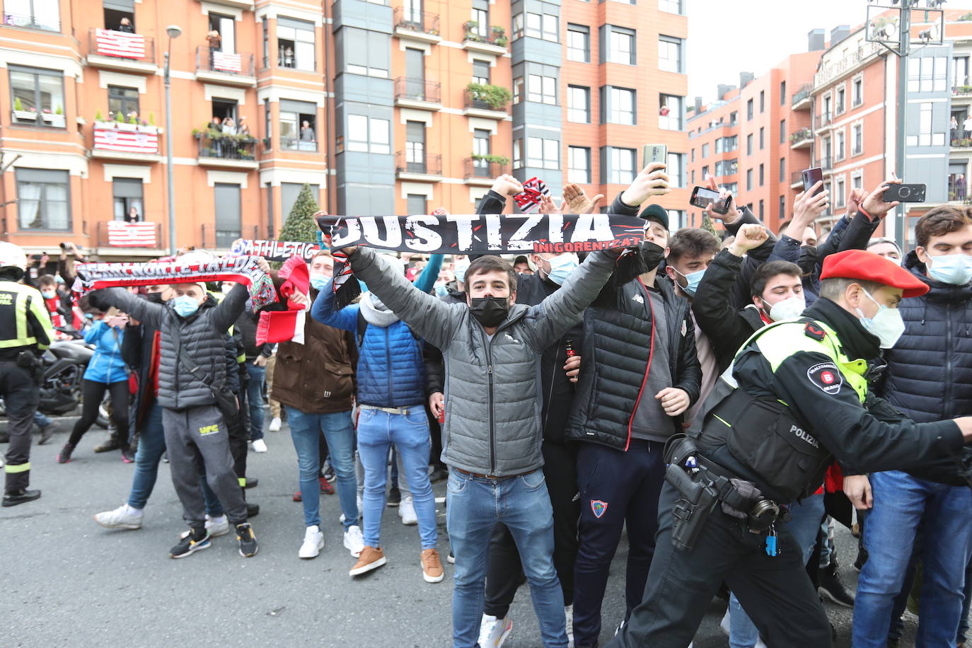
M609 646L685 648L722 581L768 645L830 646L802 552L780 524L783 504L814 493L835 456L858 472L957 475L972 417L917 424L868 392L881 349L904 330L898 303L926 285L858 250L828 256L820 277L814 306L754 333L707 400L701 429L667 448L647 587Z

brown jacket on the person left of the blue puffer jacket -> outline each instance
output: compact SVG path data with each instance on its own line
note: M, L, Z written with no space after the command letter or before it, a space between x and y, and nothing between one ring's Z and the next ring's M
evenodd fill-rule
M311 290L313 303L317 296ZM274 400L305 414L351 409L358 348L354 333L326 326L307 315L304 344L281 342L273 371Z

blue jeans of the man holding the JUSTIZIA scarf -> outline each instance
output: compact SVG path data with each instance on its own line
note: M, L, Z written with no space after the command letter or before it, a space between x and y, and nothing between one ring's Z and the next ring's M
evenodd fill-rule
M502 522L513 535L544 648L566 648L564 594L553 566L553 509L540 469L507 479L449 471L446 528L456 557L452 591L452 643L471 648L479 638L489 538Z

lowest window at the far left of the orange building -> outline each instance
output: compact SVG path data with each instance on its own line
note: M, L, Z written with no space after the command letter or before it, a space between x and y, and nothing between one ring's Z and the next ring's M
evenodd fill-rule
M67 171L17 169L17 228L71 229Z

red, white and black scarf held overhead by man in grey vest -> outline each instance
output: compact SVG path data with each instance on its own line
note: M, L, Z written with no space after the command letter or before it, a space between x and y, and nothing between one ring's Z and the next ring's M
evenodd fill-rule
M255 311L277 301L273 281L260 270L256 256L224 256L204 263L82 263L77 267L74 291L84 294L103 288L225 281L249 286Z

